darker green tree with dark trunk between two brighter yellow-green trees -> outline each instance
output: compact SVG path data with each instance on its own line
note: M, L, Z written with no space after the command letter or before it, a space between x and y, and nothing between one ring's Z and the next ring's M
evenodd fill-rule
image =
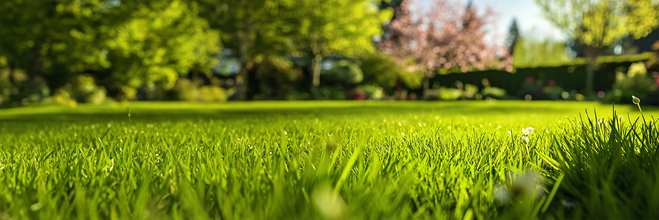
M198 1L200 14L221 33L223 47L241 63L237 76L240 84L237 95L241 99L252 99L258 92L259 65L289 68L290 62L282 58L294 51L289 39L295 34L294 23L287 18L282 1ZM293 13L297 13L293 11ZM295 15L295 14L293 14Z

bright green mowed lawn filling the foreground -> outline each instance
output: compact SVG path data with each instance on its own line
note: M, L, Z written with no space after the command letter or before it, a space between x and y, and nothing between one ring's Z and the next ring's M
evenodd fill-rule
M637 106L615 108L622 117L538 101L0 110L0 219L657 219L659 111L644 107L643 123Z

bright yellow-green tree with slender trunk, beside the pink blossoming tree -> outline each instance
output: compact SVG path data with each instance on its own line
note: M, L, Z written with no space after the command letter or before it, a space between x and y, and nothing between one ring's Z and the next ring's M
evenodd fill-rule
M312 96L320 85L320 61L330 55L358 56L375 51L373 36L391 11L378 9L379 1L281 1L287 20L295 24L293 42L312 60Z

